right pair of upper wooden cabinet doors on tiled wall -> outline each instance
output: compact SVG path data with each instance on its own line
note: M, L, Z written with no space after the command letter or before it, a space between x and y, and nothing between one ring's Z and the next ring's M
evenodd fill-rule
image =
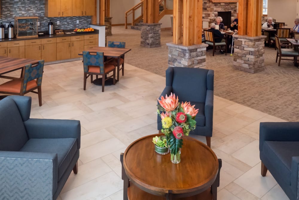
M94 15L94 0L73 0L73 16Z

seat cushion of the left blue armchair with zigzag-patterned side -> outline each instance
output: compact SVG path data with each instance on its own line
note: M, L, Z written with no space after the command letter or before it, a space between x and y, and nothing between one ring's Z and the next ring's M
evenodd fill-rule
M60 181L77 149L77 139L75 138L29 139L20 151L56 153L58 158L58 181Z

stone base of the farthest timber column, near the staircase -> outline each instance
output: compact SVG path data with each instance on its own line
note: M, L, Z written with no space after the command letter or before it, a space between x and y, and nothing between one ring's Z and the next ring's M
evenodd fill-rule
M160 36L161 36L161 23L147 24L140 23L141 28L141 42L140 46L147 48L159 47L161 46Z

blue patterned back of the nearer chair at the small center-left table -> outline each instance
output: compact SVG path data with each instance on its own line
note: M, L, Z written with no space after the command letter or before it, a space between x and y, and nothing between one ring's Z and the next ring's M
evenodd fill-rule
M99 73L104 73L104 53L83 51L84 72L89 71L89 67L100 67Z

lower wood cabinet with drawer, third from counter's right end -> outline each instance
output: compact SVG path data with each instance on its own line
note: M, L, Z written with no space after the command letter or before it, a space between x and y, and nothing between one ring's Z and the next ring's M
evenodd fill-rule
M71 58L71 37L57 38L57 60Z

